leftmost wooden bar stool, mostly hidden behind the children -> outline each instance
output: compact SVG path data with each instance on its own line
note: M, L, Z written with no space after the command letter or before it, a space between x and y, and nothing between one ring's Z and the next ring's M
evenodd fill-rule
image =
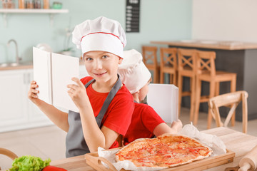
M156 46L142 46L143 63L148 70L153 71L153 83L159 83L160 66L157 61Z

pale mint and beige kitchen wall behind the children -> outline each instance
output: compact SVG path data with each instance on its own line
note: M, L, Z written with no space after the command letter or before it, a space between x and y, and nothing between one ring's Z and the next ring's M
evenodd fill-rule
M4 0L5 1L5 0ZM18 1L14 1L18 8ZM67 31L86 19L106 16L115 19L125 28L126 1L76 0L60 1L66 14L54 14L51 26L49 14L0 13L0 63L15 61L14 47L6 44L14 38L18 43L19 56L23 61L32 59L32 46L47 43L53 51L64 51ZM50 7L54 1L49 1ZM43 1L42 4L43 6ZM135 48L150 41L181 39L211 39L219 41L257 41L257 24L254 22L257 1L204 1L204 0L142 0L140 32L127 33L125 49ZM2 4L0 3L0 8ZM74 56L80 52L69 41Z

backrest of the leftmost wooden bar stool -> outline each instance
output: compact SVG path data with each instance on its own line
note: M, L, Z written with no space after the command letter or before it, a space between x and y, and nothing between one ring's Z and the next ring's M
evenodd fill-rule
M158 65L157 62L157 50L156 46L142 46L143 63L145 65Z

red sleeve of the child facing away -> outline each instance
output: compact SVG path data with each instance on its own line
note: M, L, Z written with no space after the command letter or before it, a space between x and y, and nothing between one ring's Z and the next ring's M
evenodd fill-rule
M154 128L160 123L165 123L155 110L149 105L145 105L143 113L141 113L143 125L153 133Z

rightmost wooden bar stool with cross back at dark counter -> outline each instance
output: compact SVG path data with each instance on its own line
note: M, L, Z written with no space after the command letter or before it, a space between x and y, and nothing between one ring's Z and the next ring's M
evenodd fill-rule
M231 82L231 92L236 91L236 73L225 71L216 71L215 68L216 53L213 51L196 51L196 110L194 113L193 124L197 125L199 105L208 102L210 98L219 95L219 84L221 82ZM201 81L210 83L209 95L201 96ZM232 125L235 125L235 114L231 119ZM208 110L207 128L211 128L211 112Z

